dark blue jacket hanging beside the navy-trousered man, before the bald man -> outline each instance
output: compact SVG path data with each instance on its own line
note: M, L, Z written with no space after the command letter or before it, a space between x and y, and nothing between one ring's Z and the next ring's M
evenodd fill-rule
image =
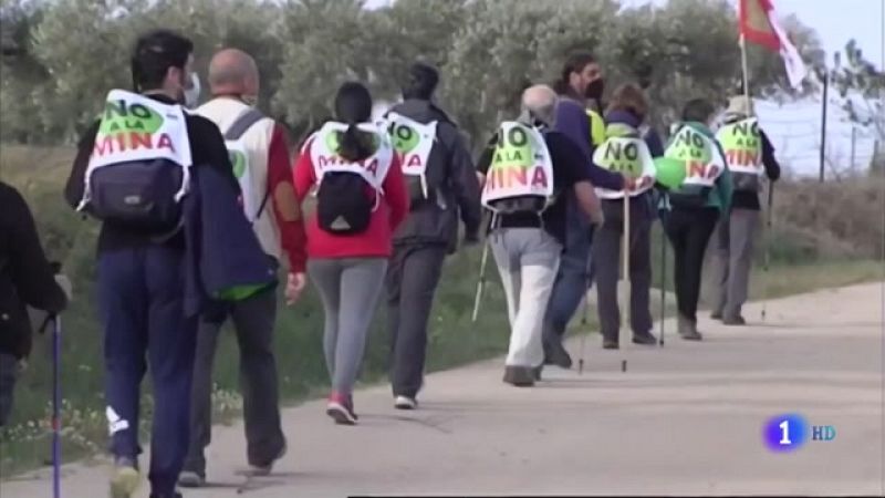
M215 168L190 168L184 203L185 313L211 312L277 284L273 259L246 219L228 178Z

